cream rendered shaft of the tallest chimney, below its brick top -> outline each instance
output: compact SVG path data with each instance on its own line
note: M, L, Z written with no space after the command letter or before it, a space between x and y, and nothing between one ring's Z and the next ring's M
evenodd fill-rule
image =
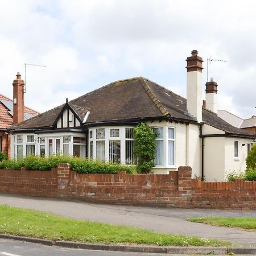
M187 72L187 110L198 122L202 121L202 73Z

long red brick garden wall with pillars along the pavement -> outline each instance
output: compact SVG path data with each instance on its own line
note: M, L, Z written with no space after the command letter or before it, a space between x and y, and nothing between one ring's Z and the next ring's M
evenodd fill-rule
M77 174L69 164L51 171L0 170L0 191L97 203L205 209L256 209L256 181L202 182L190 167L170 174Z

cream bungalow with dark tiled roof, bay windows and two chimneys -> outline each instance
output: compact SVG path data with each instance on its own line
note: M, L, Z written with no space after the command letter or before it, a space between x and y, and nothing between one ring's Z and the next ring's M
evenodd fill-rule
M217 116L217 84L208 82L202 107L202 63L187 58L187 100L144 77L112 82L36 115L10 130L12 157L28 154L76 155L134 163L133 129L145 122L157 131L155 167L167 174L191 166L193 177L224 180L227 171L245 170L254 136Z

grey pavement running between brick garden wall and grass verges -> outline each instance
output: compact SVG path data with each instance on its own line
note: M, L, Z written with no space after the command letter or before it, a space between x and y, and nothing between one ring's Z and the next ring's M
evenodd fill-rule
M28 197L7 193L0 193L0 204L27 209L43 210L66 217L76 218L78 220L90 220L105 222L109 224L129 225L138 228L154 230L156 232L185 234L189 236L200 236L204 238L217 238L218 240L226 240L235 243L237 245L237 254L256 254L256 232L210 226L187 221L187 218L204 216L256 218L256 211L254 210L205 210L134 207L125 205L94 204L83 201L46 199L43 197ZM67 246L71 246L71 244L69 244L70 242L65 243L67 243ZM77 245L74 243L74 246ZM80 244L79 247L80 246L82 245ZM116 245L112 245L112 248L109 246L111 247L111 245L108 245L108 250L114 250L116 247ZM137 249L129 249L130 247L136 247ZM145 247L151 248L156 246L141 246L143 247L142 249L138 249L138 246L130 247L123 250L145 251ZM118 249L120 248L121 247L118 245ZM156 248L160 250L160 247ZM183 249L182 247L178 247L178 249L181 249L182 253L187 253L187 250L185 250L184 247ZM105 250L107 250L107 247ZM163 250L164 252L161 251L161 253L171 253L170 247L166 247L165 249L163 248ZM173 250L174 247L172 247L172 251ZM222 252L223 250L226 250L226 248L222 248ZM154 251L156 252L156 249L154 249ZM216 251L216 248L214 251ZM147 249L147 252L152 253L152 250ZM178 252L175 251L175 253ZM218 252L216 251L216 253Z

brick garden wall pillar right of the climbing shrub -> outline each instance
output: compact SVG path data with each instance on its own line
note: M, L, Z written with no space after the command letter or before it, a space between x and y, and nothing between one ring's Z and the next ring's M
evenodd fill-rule
M181 193L191 194L192 192L192 169L189 166L178 168L178 189Z

